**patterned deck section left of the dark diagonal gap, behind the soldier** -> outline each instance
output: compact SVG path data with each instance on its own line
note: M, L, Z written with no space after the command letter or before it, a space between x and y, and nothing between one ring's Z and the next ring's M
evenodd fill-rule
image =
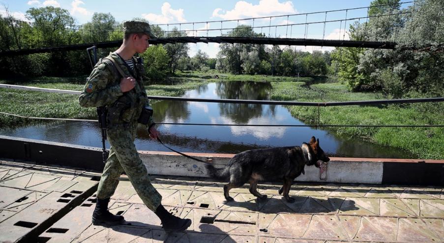
M41 234L66 212L81 204L97 186L96 181L91 181L97 173L17 162L0 163L1 242L23 239L33 242L23 237ZM79 179L82 174L86 175L85 178ZM90 222L90 213L88 215ZM73 218L68 221L73 222ZM60 231L69 230L56 228L55 232L48 234L55 238L61 234Z

